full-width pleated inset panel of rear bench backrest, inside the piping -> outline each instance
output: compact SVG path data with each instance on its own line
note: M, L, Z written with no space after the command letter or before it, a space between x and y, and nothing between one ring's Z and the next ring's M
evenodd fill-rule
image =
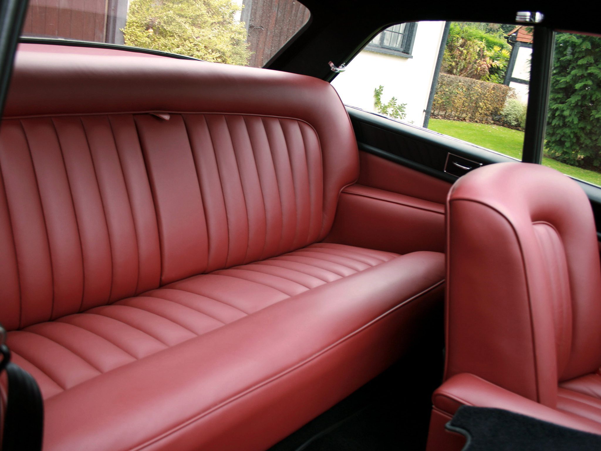
M276 256L322 235L322 149L302 120L7 120L0 164L9 330Z

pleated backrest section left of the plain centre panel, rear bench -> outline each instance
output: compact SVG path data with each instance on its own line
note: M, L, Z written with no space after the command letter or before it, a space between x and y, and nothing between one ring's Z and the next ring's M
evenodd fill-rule
M8 330L159 286L157 218L133 118L111 119L2 122Z

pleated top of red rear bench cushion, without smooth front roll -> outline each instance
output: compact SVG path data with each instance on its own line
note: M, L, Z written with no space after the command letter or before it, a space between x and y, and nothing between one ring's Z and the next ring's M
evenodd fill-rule
M8 334L8 345L14 362L35 377L47 399L276 302L396 257L352 246L314 244L35 324Z

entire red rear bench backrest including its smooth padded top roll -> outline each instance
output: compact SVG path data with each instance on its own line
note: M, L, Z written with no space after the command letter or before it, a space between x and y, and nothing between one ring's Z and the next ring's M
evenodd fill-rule
M320 241L358 177L335 90L289 73L21 44L5 117L8 330Z

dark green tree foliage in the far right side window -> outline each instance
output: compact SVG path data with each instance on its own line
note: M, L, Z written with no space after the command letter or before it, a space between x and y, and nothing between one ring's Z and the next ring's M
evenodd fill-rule
M601 38L558 33L546 150L558 161L601 167Z

